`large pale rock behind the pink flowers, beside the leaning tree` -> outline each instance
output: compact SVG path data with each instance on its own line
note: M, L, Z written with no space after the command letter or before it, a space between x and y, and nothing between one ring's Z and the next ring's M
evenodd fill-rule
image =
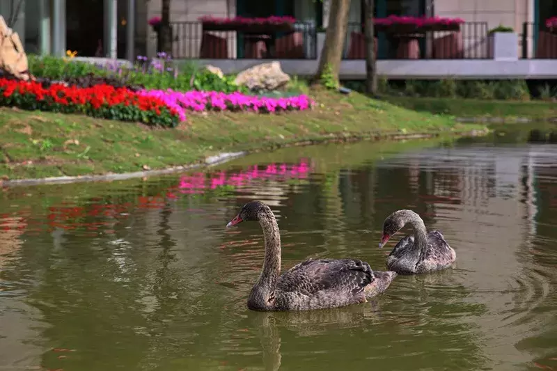
M288 84L290 76L281 69L276 61L254 65L238 74L237 85L245 85L250 90L276 90Z

